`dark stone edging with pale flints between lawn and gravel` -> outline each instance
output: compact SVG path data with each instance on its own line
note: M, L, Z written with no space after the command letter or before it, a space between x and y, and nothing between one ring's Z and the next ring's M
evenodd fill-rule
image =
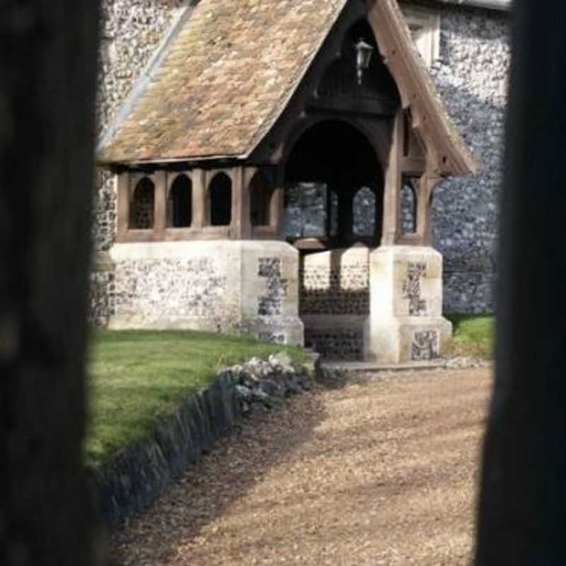
M187 398L149 439L122 449L104 466L89 471L100 520L112 524L139 514L236 422L250 412L280 405L282 397L308 391L317 371L318 360L293 366L287 354L270 356L268 361L253 358L219 371L207 390ZM266 393L266 381L273 395Z

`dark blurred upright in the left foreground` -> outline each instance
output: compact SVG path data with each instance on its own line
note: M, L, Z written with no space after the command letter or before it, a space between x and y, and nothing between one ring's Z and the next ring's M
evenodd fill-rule
M98 1L0 2L0 564L90 566L82 441Z

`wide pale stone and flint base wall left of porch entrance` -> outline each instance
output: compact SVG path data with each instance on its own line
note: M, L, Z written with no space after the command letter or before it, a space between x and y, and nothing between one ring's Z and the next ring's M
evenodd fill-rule
M120 243L109 328L190 329L303 343L299 253L279 241Z

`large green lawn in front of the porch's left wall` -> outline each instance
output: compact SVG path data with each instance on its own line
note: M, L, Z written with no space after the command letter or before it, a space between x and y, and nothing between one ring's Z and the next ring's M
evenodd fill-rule
M223 366L300 348L246 337L191 331L97 330L89 352L91 421L86 465L96 468L118 449L147 437L190 393L206 388Z

